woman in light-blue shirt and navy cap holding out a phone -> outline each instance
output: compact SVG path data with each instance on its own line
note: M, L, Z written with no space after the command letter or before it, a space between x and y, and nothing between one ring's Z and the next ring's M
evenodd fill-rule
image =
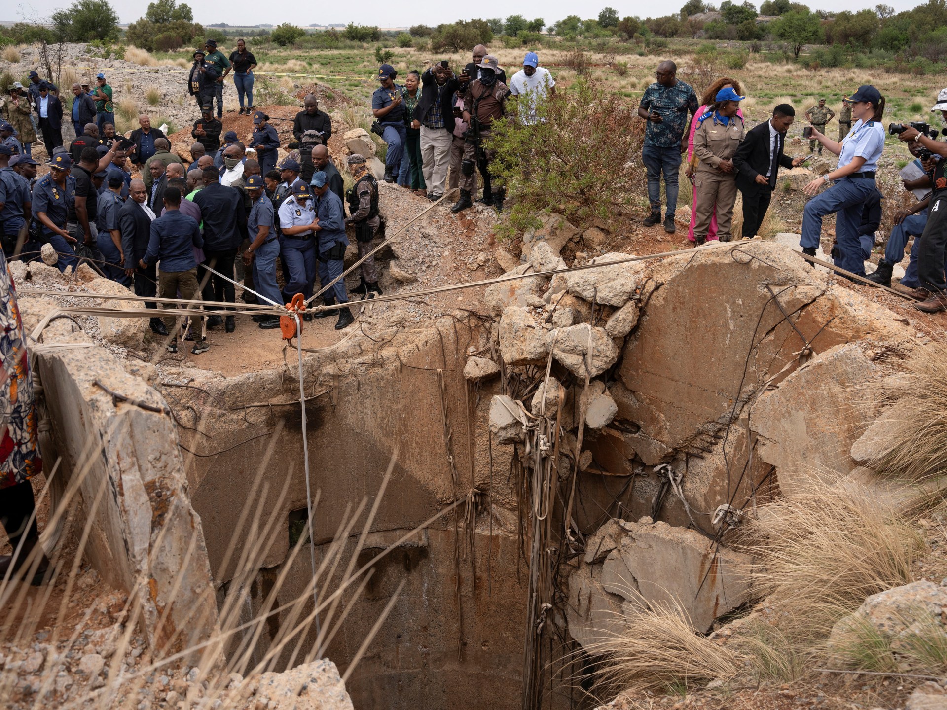
M822 234L822 218L834 212L838 252L832 262L852 274L864 276L865 261L860 240L862 208L875 190L875 169L884 150L884 126L881 122L884 97L874 86L865 84L846 100L851 103L851 117L856 121L841 143L813 128L813 138L839 157L834 170L803 188L807 195L815 195L823 186L834 182L806 204L799 244L804 254L814 257Z

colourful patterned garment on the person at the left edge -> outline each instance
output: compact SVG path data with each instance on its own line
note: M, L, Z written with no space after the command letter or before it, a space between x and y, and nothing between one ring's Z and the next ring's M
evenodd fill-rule
M36 424L27 339L7 259L0 252L0 488L43 470Z

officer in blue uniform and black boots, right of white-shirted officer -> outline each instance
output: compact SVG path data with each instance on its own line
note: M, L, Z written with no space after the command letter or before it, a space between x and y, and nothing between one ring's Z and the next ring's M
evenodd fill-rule
M316 201L316 217L318 225L315 234L319 246L319 283L326 286L338 275L342 275L345 268L346 247L346 212L339 196L329 188L329 176L319 170L313 175L313 194ZM323 293L323 301L327 306L336 303L348 303L346 283L339 279L332 288ZM322 311L315 317L321 318L330 315L331 311ZM345 328L355 318L347 308L339 309L339 320L335 324L336 330Z

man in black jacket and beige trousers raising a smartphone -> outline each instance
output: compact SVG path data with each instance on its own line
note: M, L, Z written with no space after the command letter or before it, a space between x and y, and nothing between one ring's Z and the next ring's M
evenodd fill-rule
M431 202L444 195L447 168L451 162L451 143L454 139L454 109L451 98L460 82L447 60L429 67L420 77L420 103L411 121L412 128L420 128L421 170Z

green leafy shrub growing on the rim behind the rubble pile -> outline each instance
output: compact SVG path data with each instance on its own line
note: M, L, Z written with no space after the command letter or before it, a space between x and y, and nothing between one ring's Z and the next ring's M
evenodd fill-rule
M640 191L642 174L631 167L640 166L644 133L636 101L580 78L568 94L540 101L537 114L545 120L532 126L510 117L494 124L495 172L516 197L501 231L536 226L536 215L553 208L575 224L608 219L614 204Z

